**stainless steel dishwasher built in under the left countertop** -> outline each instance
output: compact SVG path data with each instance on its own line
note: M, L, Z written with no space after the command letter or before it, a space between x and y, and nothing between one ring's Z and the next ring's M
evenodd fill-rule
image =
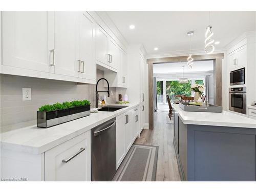
M116 173L116 118L91 130L92 181L111 181Z

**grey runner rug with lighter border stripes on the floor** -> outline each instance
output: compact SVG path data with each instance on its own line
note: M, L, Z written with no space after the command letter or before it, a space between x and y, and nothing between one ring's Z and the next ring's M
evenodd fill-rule
M156 181L158 146L133 144L112 181Z

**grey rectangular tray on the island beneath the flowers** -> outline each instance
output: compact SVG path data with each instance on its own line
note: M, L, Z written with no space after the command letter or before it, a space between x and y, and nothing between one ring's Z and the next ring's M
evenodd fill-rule
M180 102L180 108L184 111L222 113L222 106L217 106L214 104L210 104L209 106L190 106L188 104L189 102Z

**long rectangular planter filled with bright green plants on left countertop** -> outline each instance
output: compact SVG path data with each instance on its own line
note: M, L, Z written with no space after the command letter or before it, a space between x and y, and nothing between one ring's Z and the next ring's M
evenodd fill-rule
M43 105L37 111L37 127L48 128L88 116L90 115L90 104L88 100L76 100Z

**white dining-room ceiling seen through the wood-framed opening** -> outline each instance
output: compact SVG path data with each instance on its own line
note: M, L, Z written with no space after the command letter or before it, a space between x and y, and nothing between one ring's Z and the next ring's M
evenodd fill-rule
M172 62L172 63L161 63L153 65L154 74L171 74L171 73L182 73L182 66L184 67L184 73L200 73L214 70L214 61L195 61L193 68L188 69L187 62Z

